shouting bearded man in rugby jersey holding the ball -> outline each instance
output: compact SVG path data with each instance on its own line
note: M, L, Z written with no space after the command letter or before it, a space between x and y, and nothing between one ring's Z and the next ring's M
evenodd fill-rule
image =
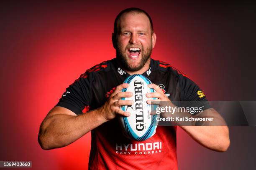
M197 94L200 88L184 74L150 58L156 34L145 11L123 10L115 19L112 40L116 58L87 70L67 88L41 124L41 147L60 148L91 131L89 169L177 169L176 126L159 126L154 136L142 142L123 135L117 116L129 116L131 113L122 111L120 106L131 105L132 101L121 98L133 95L121 92L128 87L123 81L133 74L148 77L154 83L148 86L156 92L147 97L161 101L206 101L205 96ZM205 107L203 112L216 111ZM225 151L229 146L226 126L180 127L212 150Z

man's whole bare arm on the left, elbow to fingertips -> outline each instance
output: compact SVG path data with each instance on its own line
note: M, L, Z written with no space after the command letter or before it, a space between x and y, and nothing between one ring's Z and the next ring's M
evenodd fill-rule
M121 84L105 102L105 104L86 114L76 115L64 107L54 107L42 122L38 142L45 150L64 147L81 138L83 135L104 122L112 120L117 114L129 116L119 108L120 105L131 105L130 100L120 100L131 97L131 92L120 92L128 84Z

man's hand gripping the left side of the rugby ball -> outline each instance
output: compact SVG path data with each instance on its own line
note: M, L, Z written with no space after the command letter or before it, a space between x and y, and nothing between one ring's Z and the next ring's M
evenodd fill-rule
M123 83L115 88L115 91L110 95L105 104L100 108L102 116L106 120L115 118L116 115L130 116L131 113L124 112L120 109L123 105L132 105L133 100L121 100L122 97L132 97L132 92L121 92L123 88L129 87L129 84Z

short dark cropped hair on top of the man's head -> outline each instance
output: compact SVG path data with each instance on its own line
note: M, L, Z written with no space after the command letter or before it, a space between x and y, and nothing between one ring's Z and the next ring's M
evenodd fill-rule
M118 23L118 20L120 19L120 17L124 14L124 13L143 13L145 15L147 15L148 19L149 19L149 22L150 22L150 25L151 25L151 34L153 34L154 32L154 29L153 29L153 22L151 20L151 17L148 15L148 13L138 7L130 7L130 8L127 8L125 10L122 10L118 15L117 17L115 18L115 23L114 23L114 34L117 35L118 33L118 28L117 28L117 23Z

